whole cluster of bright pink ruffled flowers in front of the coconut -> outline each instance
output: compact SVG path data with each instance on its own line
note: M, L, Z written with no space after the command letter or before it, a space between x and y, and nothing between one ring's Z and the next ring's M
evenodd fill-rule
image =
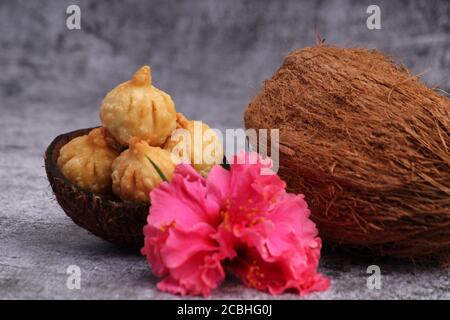
M225 265L271 294L329 287L317 273L321 241L304 197L286 193L276 174L262 174L270 167L245 153L230 171L215 166L207 179L179 165L172 181L151 193L142 253L165 277L159 289L208 295L224 280Z

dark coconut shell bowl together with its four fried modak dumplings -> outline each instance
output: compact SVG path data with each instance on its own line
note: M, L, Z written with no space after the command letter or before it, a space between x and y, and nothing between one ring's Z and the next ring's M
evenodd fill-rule
M47 176L78 225L108 241L142 247L150 191L171 180L180 162L206 176L222 161L221 139L206 124L177 116L171 97L152 85L148 66L106 94L99 115L101 129L55 138L46 152Z

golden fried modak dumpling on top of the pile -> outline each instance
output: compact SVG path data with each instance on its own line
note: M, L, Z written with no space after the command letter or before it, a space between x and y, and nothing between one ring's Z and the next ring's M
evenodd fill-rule
M176 128L175 104L167 93L152 85L151 69L143 66L131 80L105 96L100 120L124 146L128 146L132 137L161 146Z

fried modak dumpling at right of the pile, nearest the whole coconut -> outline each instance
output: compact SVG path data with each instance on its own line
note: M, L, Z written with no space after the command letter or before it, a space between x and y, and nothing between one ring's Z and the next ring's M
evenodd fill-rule
M223 161L223 145L217 133L204 122L188 120L181 113L177 113L177 129L164 149L174 155L174 161L191 163L204 177Z

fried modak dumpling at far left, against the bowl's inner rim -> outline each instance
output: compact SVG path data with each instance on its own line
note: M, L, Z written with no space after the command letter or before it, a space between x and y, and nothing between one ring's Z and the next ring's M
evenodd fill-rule
M118 156L119 153L106 143L105 129L96 128L61 148L58 168L73 184L94 193L104 193L111 190L111 165Z

